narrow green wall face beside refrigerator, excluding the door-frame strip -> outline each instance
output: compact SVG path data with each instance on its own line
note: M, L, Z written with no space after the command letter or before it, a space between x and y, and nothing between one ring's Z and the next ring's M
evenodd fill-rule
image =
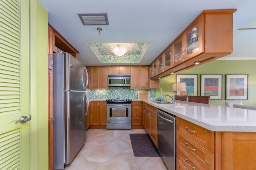
M48 169L48 12L37 2L38 170Z

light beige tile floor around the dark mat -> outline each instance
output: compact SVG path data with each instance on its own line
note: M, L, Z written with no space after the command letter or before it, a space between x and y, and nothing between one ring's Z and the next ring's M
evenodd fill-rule
M88 129L87 140L65 170L168 170L161 157L135 157L130 133L144 129Z

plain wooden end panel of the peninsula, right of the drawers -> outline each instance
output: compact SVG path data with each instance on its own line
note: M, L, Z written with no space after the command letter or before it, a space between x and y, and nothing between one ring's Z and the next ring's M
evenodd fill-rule
M222 132L221 162L222 170L255 169L256 132Z

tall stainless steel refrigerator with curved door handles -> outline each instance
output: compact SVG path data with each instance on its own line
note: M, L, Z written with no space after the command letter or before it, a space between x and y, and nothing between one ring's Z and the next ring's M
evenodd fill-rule
M88 73L68 53L54 54L54 169L64 169L86 141Z

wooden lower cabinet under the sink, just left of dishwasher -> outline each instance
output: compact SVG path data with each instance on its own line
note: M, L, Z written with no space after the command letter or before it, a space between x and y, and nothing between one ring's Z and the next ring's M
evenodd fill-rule
M149 104L145 104L144 110L144 128L154 145L157 146L157 108Z

